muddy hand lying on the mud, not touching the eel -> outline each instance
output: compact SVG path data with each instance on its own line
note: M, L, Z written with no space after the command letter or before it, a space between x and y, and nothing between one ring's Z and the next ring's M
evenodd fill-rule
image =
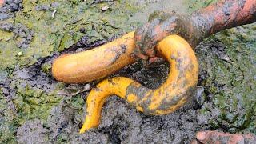
M195 135L195 138L191 143L256 143L256 137L253 134L229 134L214 131L200 131Z

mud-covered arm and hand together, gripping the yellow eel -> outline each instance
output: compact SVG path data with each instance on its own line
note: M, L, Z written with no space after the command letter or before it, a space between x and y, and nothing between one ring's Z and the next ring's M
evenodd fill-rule
M134 54L142 59L153 58L156 44L170 34L182 36L195 47L220 30L252 22L256 22L255 0L222 0L191 15L157 12L136 30Z

